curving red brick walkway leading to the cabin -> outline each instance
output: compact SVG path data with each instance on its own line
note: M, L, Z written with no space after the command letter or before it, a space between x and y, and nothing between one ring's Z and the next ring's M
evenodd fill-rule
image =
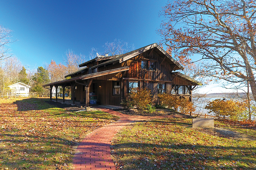
M110 144L115 134L125 125L139 121L150 120L153 118L171 118L183 117L180 115L168 116L130 116L110 109L101 109L103 112L111 113L119 116L117 122L105 125L92 133L88 134L86 138L77 147L73 158L73 166L75 170L115 170L115 165L111 159Z

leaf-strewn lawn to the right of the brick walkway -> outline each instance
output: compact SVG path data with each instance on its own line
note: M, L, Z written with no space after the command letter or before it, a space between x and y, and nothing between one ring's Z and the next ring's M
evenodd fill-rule
M170 118L127 126L111 144L117 168L256 169L256 141L185 127L191 124L191 119Z

